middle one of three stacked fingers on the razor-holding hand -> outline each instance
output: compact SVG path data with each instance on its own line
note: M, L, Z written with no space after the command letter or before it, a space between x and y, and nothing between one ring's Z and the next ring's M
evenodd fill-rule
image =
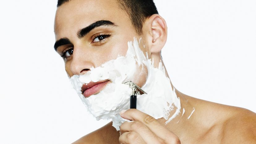
M162 144L164 141L158 138L146 125L140 121L126 121L120 126L122 133L135 131L147 144Z

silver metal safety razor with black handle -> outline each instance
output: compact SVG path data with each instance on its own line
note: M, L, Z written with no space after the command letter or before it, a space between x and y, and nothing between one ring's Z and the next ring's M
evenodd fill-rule
M137 95L147 94L143 91L139 86L137 86L132 81L125 82L123 84L127 84L132 89L132 95L130 96L130 108L135 108L137 105Z

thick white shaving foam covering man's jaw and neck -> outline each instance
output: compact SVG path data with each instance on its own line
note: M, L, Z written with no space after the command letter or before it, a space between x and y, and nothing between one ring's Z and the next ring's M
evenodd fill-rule
M134 73L141 65L145 66L148 71L146 83L141 87L147 92L147 95L137 96L137 109L156 119L163 117L168 123L179 114L180 99L177 97L175 89L172 89L162 63L160 62L158 68L155 68L154 62L148 59L147 53L146 56L143 54L139 48L139 42L135 38L133 42L128 42L126 56L118 56L117 59L108 61L100 67L92 67L84 75L74 75L70 81L83 104L96 117L96 120L112 119L113 126L119 130L119 126L127 121L119 115L119 112L129 108L131 95L130 87L122 83L126 79L132 80ZM84 83L105 79L111 80L112 83L109 83L98 94L88 98L82 95L81 87ZM169 118L169 113L174 110L174 107L176 107L176 111Z

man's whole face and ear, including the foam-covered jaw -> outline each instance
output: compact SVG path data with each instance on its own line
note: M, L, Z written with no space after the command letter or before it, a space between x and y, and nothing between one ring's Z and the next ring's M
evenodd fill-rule
M158 90L166 94L164 91L171 89L160 62L166 25L159 16L148 18L143 27L144 35L139 36L129 15L119 8L116 0L71 0L58 8L54 32L54 47L63 54L70 81L87 110L98 120L111 118L113 126L119 129L124 121L119 112L130 105L132 91L123 84L128 80L148 92L137 101L142 111L154 114L152 112L156 111L152 108L157 107L156 117L159 118L163 117L164 109L170 109L170 105L164 105L166 98L153 99L159 94ZM148 58L155 58L157 65ZM155 68L158 64L160 69ZM152 107L156 101L159 103Z

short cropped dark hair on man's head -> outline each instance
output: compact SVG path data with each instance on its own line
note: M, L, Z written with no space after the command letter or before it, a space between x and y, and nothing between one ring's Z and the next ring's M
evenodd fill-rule
M70 0L58 0L57 7ZM141 35L143 23L151 15L158 14L153 0L117 0L119 7L126 11L137 34Z

